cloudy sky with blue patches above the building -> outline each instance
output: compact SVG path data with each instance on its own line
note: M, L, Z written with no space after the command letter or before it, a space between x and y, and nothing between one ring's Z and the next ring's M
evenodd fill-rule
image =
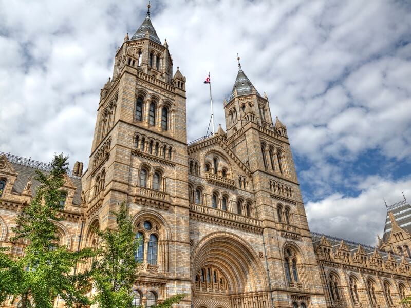
M188 141L216 125L241 66L287 132L311 230L376 244L411 200L411 2L156 1L186 76ZM100 89L140 0L0 0L0 151L88 164Z

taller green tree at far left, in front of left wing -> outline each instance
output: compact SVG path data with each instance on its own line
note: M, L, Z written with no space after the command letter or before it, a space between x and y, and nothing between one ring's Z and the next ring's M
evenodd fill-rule
M91 249L78 252L68 251L65 246L57 246L57 226L55 222L60 209L64 174L67 172L67 157L54 155L52 170L44 175L36 170L36 180L41 185L30 204L23 206L18 214L15 233L11 240L24 239L24 257L13 257L0 253L0 301L8 295L21 298L23 308L34 304L36 307L52 308L58 295L68 307L82 307L90 303L84 295L89 272L73 273L78 262L94 255Z

